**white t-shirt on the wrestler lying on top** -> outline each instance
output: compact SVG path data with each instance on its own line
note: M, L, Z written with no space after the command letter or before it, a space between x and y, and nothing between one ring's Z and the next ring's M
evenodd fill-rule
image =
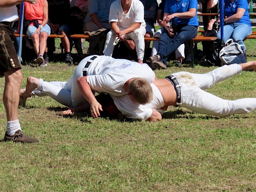
M113 96L126 95L124 83L136 77L145 78L152 83L155 80L155 73L146 63L141 65L138 62L104 55L94 59L87 71L87 82L92 90Z

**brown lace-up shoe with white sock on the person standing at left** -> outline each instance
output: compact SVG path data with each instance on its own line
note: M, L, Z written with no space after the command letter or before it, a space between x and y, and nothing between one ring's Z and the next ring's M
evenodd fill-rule
M15 132L13 136L8 135L5 133L4 141L13 141L13 142L20 142L20 143L38 143L38 139L31 138L24 134L21 130Z

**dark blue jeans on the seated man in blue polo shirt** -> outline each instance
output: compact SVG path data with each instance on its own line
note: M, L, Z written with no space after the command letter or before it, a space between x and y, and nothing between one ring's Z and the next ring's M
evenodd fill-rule
M193 39L197 36L197 27L191 25L180 25L174 27L175 36L169 36L166 29L164 29L159 39L158 55L161 57L161 62L166 65L168 56L174 52L181 44Z

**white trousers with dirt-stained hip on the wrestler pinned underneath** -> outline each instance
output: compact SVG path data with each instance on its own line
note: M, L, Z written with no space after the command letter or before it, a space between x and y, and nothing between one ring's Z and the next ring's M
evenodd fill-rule
M256 109L256 98L226 100L203 91L214 86L217 82L241 73L241 66L232 64L205 74L188 72L172 74L181 85L181 104L179 106L198 113L220 117L254 111Z

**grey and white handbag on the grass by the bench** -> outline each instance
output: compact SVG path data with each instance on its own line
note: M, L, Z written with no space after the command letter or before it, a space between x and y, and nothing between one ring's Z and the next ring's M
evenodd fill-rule
M220 59L223 65L247 62L245 49L245 45L240 45L237 42L233 42L233 39L228 39L225 42L225 47L220 51Z

